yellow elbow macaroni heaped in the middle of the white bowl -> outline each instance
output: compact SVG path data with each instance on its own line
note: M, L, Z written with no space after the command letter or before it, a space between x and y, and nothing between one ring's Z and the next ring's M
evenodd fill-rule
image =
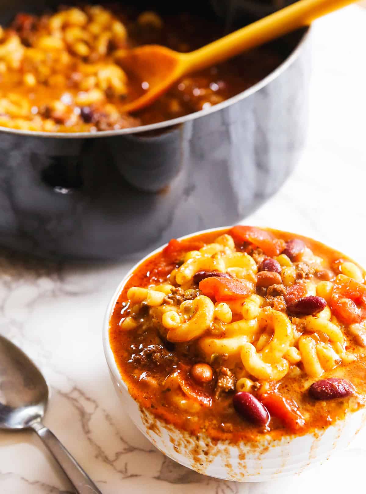
M320 258L304 252L308 262L322 266ZM346 352L343 327L332 312L333 283L319 280L317 284L304 280L306 296L325 298L326 307L313 316L290 318L289 315L265 305L266 299L253 293L227 302L214 302L206 295L177 302L171 306L165 297L173 297L177 290L190 291L193 276L199 271L230 273L233 279L255 283L257 264L246 252L235 251L230 235L218 237L212 244L184 255L183 264L175 268L170 283L148 288L132 287L127 296L132 304L143 301L150 313L165 329L166 339L174 343L197 340L197 349L203 360L211 363L213 356L225 359L237 369L237 391L251 391L254 380L279 381L289 371L290 376L305 372L318 378L356 357ZM291 287L296 279L296 263L280 254L276 260L282 267L282 281ZM363 279L361 270L351 262L343 262L340 271L345 283ZM348 278L347 278L348 277ZM177 288L178 285L178 288ZM259 292L260 293L260 292ZM124 330L137 327L137 321L128 316L121 320ZM254 379L254 380L253 380Z

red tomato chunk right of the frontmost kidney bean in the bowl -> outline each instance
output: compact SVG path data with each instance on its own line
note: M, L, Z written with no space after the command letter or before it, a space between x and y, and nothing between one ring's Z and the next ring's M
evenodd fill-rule
M296 403L285 398L280 393L265 393L261 396L260 401L273 416L282 420L292 431L296 431L305 425L305 419L299 412Z

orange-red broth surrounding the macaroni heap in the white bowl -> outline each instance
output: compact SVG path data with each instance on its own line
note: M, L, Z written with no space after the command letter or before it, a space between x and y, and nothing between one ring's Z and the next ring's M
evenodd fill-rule
M344 254L306 237L278 230L267 231L271 232L277 239L284 241L293 238L303 240L315 255L324 258L324 267L333 273L334 277L339 272L337 271L339 266L337 261L339 259L349 260ZM178 252L177 257L183 257L184 252L192 250L192 248L197 249L200 246L214 242L223 233L229 233L229 231L218 230L183 240L181 243L182 250ZM248 249L250 251L252 247L249 243L236 243L238 251ZM119 323L121 318L126 317L129 313L128 289L135 286L148 287L152 283L167 282L167 274L178 264L175 260L172 261L167 258L163 251L159 251L138 265L122 289L110 318L110 346L115 362L131 396L142 407L149 409L156 417L163 419L167 423L174 424L177 428L186 430L193 435L205 432L214 440L228 439L236 442L244 439L255 442L258 435L264 432L269 432L272 437L281 437L293 433L305 434L315 429L324 429L336 420L344 418L345 413L355 411L364 405L366 395L366 357L343 325L342 330L347 342L346 349L348 352L355 352L357 359L347 365L341 364L333 371L326 371L321 378L330 376L345 378L355 386L356 394L347 398L316 401L306 391L310 383L316 379L309 378L304 372L301 372L296 377L285 376L277 383L277 392L287 399L293 400L305 419L305 425L296 431L289 430L281 419L276 416L271 416L267 428L255 425L244 419L232 406L233 392L223 393L219 399L214 398L215 378L212 382L199 386L201 390L212 397L211 407L201 406L198 411L193 413L174 406L169 400L169 395L172 391L167 391L164 388L164 382L167 376L177 369L177 366L183 366L184 369L189 370L193 364L202 361L200 352L195 346L195 340L187 343L170 344L161 339L159 332L153 325L149 326L147 324L143 331L139 331L139 328L124 331ZM365 275L365 272L362 272ZM166 362L163 361L159 365L155 365L148 360L143 365L136 365L131 361L133 354L142 351L150 344L156 344L157 341L167 345L167 351L171 352L176 359L173 361L167 359ZM299 367L301 371L301 366ZM145 378L141 379L142 375L152 377L154 386L151 387L149 381Z

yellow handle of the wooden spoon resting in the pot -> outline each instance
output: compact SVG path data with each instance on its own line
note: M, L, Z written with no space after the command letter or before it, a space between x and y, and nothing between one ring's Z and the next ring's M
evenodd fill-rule
M243 51L309 25L313 20L355 0L299 0L220 40L182 54L183 72L205 69Z

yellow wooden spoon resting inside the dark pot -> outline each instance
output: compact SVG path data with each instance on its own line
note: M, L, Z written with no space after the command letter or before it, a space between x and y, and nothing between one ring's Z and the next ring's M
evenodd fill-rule
M239 53L274 40L355 0L299 0L267 17L190 53L149 44L124 51L116 60L130 79L146 87L145 93L126 100L122 111L140 110L158 98L182 76L206 69Z

